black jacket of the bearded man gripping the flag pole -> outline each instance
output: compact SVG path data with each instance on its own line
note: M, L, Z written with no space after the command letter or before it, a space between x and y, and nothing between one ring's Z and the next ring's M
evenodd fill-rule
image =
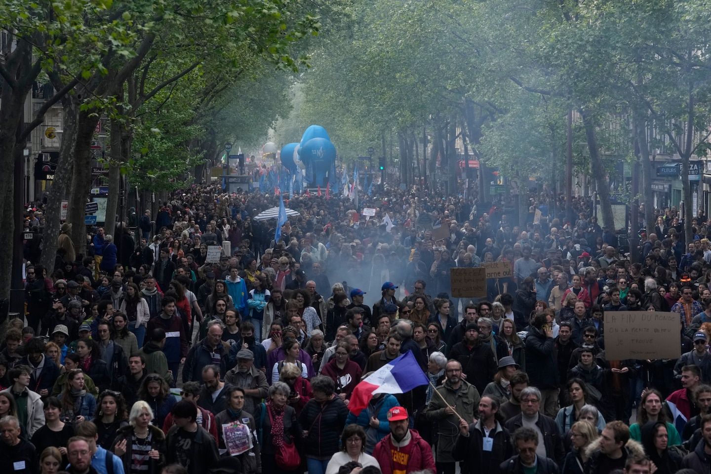
M489 433L491 434L491 433ZM461 465L462 474L491 473L498 474L504 460L513 455L511 436L498 421L493 429L493 447L485 458L483 451L483 430L481 422L469 424L469 436L457 436L454 443L453 456L464 461Z

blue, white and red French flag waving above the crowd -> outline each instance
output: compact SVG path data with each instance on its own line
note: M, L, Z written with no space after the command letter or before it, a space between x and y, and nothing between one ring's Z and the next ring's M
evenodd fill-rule
M358 416L375 394L403 394L427 384L427 376L419 368L415 356L408 350L356 385L351 394L351 402L348 403L348 410Z

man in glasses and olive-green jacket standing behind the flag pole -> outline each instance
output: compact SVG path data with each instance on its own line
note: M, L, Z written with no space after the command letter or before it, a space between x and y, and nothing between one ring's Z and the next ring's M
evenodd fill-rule
M438 397L432 397L425 411L427 421L437 426L437 472L452 474L456 458L452 456L459 420L474 419L474 406L479 406L479 392L461 378L461 364L450 360L444 367L447 379L437 387Z

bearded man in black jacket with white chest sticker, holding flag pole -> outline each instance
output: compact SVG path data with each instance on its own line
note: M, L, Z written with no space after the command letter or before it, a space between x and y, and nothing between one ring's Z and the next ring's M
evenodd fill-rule
M501 463L513 455L510 434L497 420L498 409L496 397L485 395L479 401L479 420L469 424L459 419L454 458L464 460L462 473L498 474Z

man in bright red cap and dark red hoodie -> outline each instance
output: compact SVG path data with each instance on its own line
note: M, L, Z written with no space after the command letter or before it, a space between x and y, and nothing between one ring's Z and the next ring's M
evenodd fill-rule
M393 406L387 411L390 434L375 445L373 457L383 474L407 474L420 470L436 473L432 448L419 433L408 428L407 410Z

